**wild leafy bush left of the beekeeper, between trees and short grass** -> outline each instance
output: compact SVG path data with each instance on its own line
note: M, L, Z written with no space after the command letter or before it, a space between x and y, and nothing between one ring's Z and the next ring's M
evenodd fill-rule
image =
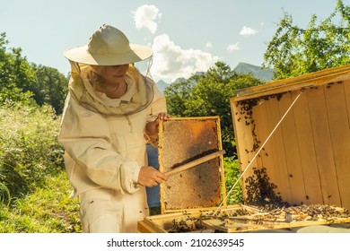
M44 177L63 169L57 118L49 106L8 102L0 108L0 184L11 197L26 195L41 186Z

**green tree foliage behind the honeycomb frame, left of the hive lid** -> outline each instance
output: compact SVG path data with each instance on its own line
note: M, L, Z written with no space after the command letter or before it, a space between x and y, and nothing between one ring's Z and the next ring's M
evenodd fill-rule
M230 99L235 91L262 82L251 74L237 74L229 65L217 62L206 74L193 75L187 81L172 83L164 91L168 112L173 117L219 116L223 149L235 154Z

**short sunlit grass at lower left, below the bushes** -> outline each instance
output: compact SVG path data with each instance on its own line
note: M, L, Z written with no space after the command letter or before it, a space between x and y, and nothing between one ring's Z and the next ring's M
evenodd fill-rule
M31 195L0 209L1 233L81 232L78 201L69 198L71 186L62 171L45 180Z

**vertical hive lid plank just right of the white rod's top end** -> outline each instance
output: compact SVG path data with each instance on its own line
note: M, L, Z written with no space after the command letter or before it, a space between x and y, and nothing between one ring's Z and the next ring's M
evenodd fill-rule
M323 203L340 205L337 171L329 133L328 110L324 89L325 87L321 86L308 91L306 94L310 108L312 134L319 167Z

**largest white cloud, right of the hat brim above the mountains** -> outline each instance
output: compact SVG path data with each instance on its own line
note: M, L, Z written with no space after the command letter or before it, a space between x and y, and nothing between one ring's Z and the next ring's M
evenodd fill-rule
M183 49L175 45L168 35L153 39L153 77L176 80L188 78L197 72L206 72L220 58L199 49Z

